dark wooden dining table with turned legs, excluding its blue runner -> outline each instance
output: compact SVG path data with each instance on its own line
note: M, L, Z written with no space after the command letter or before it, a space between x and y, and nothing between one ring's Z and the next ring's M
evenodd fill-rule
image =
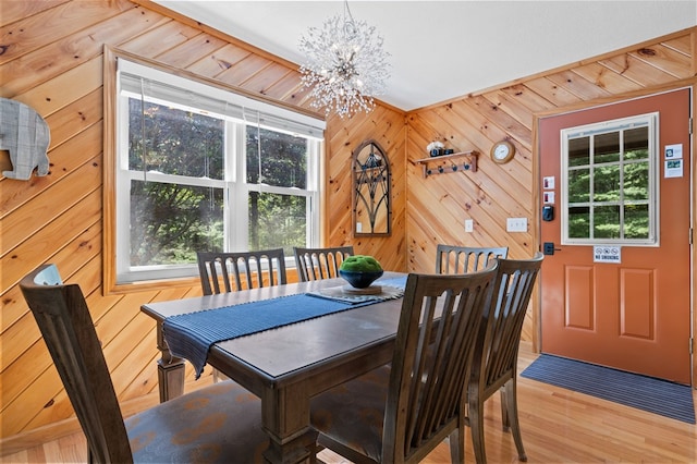
M402 277L406 274L386 272L381 280ZM142 310L157 321L160 401L184 390L185 361L172 355L164 341L162 325L168 317L345 284L342 279L327 279L143 305ZM316 440L309 424L310 399L392 359L401 307L402 298L391 298L210 346L207 364L261 399L262 427L269 436L267 462L310 461Z

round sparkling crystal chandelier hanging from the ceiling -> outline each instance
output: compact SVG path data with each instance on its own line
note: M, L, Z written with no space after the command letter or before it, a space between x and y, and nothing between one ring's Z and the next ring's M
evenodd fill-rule
M341 118L372 111L372 97L384 93L390 77L390 53L382 49L375 26L353 19L347 0L343 15L301 37L299 49L308 60L299 71L305 87L311 88L311 107L325 108L327 115L333 109Z

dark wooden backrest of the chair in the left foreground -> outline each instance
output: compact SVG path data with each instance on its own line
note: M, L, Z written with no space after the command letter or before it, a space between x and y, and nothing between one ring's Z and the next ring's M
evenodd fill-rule
M133 462L109 368L78 285L63 284L54 265L20 282L85 432L94 462Z

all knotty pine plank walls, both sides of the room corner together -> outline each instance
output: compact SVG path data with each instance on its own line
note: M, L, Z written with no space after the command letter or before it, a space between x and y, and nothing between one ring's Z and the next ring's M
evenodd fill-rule
M140 304L199 294L197 281L164 290L102 292L103 47L160 61L309 110L297 66L205 25L142 0L3 2L0 97L23 101L49 123L51 173L30 181L0 178L0 448L75 430L72 407L17 288L42 262L87 297L125 414L157 401L154 323ZM695 30L634 50L575 63L500 88L463 96L409 114L379 105L368 115L330 118L326 133L325 243L354 244L386 268L428 272L436 243L506 243L512 257L536 249L533 210L534 117L598 98L670 85L695 75ZM490 145L509 137L518 155L488 160ZM375 138L393 174L393 233L351 234L351 151ZM441 139L481 151L477 173L424 179L416 159ZM9 168L0 152L0 169ZM408 185L408 188L407 188ZM528 233L506 234L505 218L527 217ZM465 234L472 218L475 232ZM531 322L526 337L531 337ZM207 371L207 374L209 374ZM188 379L193 379L191 371ZM196 388L201 382L189 382Z

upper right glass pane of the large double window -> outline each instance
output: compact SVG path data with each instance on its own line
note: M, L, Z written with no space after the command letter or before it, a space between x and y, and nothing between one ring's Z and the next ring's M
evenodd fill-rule
M247 182L306 188L307 139L247 125Z

